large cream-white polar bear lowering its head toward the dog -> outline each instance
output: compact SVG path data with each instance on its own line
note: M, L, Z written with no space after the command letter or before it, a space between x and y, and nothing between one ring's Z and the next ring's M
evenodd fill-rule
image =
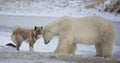
M42 36L45 44L59 36L56 53L74 53L78 43L94 44L96 56L111 58L115 32L111 21L101 16L64 16L45 25Z

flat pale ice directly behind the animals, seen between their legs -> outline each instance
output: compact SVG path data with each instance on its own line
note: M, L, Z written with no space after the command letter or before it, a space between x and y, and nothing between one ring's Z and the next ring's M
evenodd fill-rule
M56 19L58 17L50 17L50 16L0 16L0 46L5 46L7 43L13 43L10 39L10 35L12 33L12 27L15 25L21 25L24 27L34 27L35 25L41 26L45 25L48 22ZM120 22L113 21L116 30L116 42L114 46L114 58L120 60ZM48 44L44 45L43 38L39 39L35 43L35 51L36 52L53 52L58 44L58 37L54 37L53 40ZM26 43L23 43L21 51L29 51L29 46ZM83 56L94 56L95 48L93 45L77 45L76 54Z

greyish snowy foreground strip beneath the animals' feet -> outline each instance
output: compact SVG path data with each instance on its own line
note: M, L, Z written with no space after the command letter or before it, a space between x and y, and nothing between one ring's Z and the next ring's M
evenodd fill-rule
M50 52L17 52L13 48L0 46L0 63L120 63L120 61L112 58L105 59Z

